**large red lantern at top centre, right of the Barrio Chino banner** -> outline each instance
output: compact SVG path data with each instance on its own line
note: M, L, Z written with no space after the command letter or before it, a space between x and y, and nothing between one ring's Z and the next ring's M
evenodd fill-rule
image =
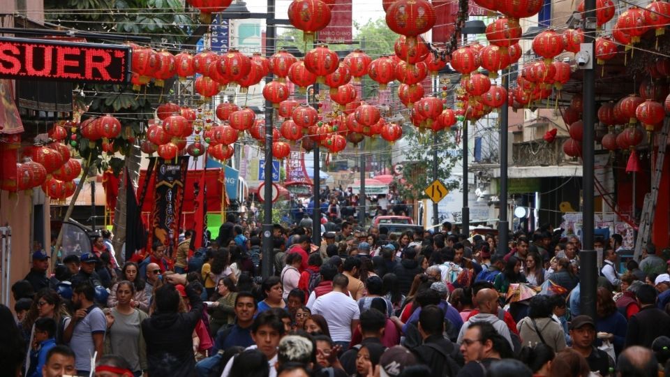
M426 0L397 0L386 11L386 24L396 34L418 36L433 28L435 10Z

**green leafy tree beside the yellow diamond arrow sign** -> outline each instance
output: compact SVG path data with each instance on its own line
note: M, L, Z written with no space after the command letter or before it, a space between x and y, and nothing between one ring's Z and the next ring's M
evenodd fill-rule
M403 127L403 139L408 146L403 148L403 182L396 178L396 187L401 197L407 200L427 198L424 190L435 179L433 177L433 133L421 133L413 126ZM450 131L440 131L437 140L438 179L449 191L459 188L461 182L452 179L452 168L461 158L460 151L449 153L457 148Z

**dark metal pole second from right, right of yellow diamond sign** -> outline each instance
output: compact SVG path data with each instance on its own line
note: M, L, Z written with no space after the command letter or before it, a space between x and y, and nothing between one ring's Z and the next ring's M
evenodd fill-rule
M502 88L505 93L509 90L509 68L502 70ZM504 256L507 254L507 244L509 236L509 223L507 222L507 133L508 128L508 111L507 95L505 95L505 103L502 103L500 108L500 195L498 202L500 203L500 210L498 212L498 254ZM493 252L493 250L491 250Z

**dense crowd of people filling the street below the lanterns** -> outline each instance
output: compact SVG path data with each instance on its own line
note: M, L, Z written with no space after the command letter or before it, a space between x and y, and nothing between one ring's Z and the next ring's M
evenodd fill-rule
M580 312L574 236L545 227L467 237L389 234L327 219L260 230L229 214L207 248L186 230L172 255L32 254L0 306L0 369L8 376L662 376L670 359L670 265L653 245L618 263L603 251L597 316ZM108 239L109 237L107 237ZM267 256L266 256L267 258ZM271 270L270 276L260 272ZM264 268L265 267L265 268Z

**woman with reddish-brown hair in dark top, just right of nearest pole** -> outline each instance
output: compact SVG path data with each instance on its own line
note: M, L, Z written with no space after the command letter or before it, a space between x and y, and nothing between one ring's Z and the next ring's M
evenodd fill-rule
M601 339L609 339L614 346L614 353L618 355L623 350L628 322L626 317L616 310L616 303L609 289L600 287L596 290L595 311L598 317L595 321L595 331L599 334L598 346L602 343ZM601 334L603 332L608 335L604 337Z

